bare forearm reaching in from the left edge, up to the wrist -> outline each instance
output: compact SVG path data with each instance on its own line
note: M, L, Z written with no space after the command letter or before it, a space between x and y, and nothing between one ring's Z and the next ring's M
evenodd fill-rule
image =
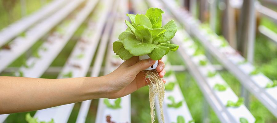
M41 79L0 77L0 114L105 97L105 77Z

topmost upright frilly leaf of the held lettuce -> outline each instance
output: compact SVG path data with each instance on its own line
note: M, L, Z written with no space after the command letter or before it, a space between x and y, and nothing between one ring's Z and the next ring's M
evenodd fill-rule
M162 14L164 11L159 8L149 8L146 11L145 15L149 18L153 29L162 27Z

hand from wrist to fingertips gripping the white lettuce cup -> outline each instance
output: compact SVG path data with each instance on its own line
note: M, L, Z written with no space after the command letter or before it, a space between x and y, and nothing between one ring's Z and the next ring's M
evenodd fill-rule
M139 61L139 57L132 57L123 62L112 73L106 75L106 79L108 80L107 98L115 99L123 97L148 85L143 70L154 65L154 63L155 61L152 59ZM156 70L161 78L166 73L164 67L165 64L159 60L159 65ZM166 82L164 79L162 80L164 83Z

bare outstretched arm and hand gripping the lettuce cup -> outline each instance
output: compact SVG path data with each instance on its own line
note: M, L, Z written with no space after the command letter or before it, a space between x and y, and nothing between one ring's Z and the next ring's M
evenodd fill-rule
M132 57L112 73L101 77L43 79L2 76L0 114L40 110L97 98L124 97L148 85L143 70L154 63L151 59L139 61L138 57ZM156 70L161 78L165 74L164 67L159 60Z

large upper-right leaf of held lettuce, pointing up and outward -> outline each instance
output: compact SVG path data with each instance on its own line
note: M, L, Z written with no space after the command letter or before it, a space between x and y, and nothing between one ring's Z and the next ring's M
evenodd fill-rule
M177 25L175 24L174 20L171 20L166 25L164 25L162 29L167 31L155 39L160 43L167 42L175 36L175 33L177 32Z

